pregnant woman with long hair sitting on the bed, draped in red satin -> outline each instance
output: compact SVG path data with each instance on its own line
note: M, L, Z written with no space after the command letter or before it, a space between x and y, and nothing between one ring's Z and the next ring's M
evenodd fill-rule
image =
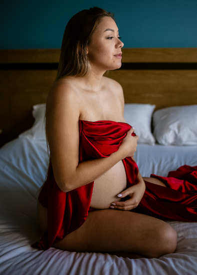
M50 162L37 202L43 235L34 247L159 257L174 252L177 237L161 216L196 221L188 205L171 207L187 198L167 178L138 172L122 88L103 76L121 67L122 47L113 15L102 9L77 13L65 28L46 102Z

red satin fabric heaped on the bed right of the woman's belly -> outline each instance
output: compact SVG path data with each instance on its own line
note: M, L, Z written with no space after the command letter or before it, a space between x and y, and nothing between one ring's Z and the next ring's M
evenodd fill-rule
M197 222L197 166L183 165L167 177L150 176L167 187L145 181L146 190L136 210L156 218Z

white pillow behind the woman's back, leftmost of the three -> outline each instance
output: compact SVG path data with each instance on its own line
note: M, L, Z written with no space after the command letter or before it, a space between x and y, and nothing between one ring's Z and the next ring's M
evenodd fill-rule
M46 104L33 105L32 115L35 121L29 130L26 130L18 136L19 138L46 139L44 126L45 108Z

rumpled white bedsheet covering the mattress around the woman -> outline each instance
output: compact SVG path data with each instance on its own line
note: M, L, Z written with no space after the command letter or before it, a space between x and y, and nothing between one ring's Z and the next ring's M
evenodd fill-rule
M141 144L134 158L142 176L166 176L180 165L197 165L196 152L197 146ZM0 274L197 274L196 223L168 220L178 234L176 251L158 259L31 248L40 237L36 199L46 170L43 141L16 139L0 149Z

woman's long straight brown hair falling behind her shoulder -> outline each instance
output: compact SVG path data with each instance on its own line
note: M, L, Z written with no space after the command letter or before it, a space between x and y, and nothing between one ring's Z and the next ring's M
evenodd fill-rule
M56 80L64 76L85 76L90 69L86 48L100 20L114 15L94 7L75 14L67 23L63 35Z

